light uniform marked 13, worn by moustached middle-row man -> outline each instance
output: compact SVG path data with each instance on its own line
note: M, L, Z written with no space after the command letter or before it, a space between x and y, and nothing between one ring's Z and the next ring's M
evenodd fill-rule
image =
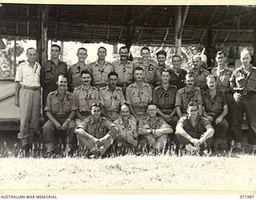
M82 114L84 118L90 115L90 106L94 103L99 103L98 89L90 86L89 90L84 89L83 86L78 86L74 89L74 102L77 106L77 112ZM76 125L80 124L81 119L75 119Z

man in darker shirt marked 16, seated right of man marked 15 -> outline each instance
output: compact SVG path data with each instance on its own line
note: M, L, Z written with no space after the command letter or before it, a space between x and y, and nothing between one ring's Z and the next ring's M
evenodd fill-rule
M175 97L177 86L170 85L170 71L162 70L162 83L153 91L153 102L158 106L158 114L171 126L175 127L178 117L175 115Z

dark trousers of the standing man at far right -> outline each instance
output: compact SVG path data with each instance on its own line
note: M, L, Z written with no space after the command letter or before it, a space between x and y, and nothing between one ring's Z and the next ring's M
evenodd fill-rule
M233 132L234 140L242 142L242 121L243 114L246 113L246 119L249 127L248 142L256 144L256 94L234 93L233 110Z

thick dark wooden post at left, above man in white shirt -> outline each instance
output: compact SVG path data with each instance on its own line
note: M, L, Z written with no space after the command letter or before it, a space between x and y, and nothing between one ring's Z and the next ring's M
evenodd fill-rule
M47 26L48 26L48 12L49 6L40 5L39 6L39 34L37 40L37 49L38 49L38 62L42 64L48 58L47 56Z

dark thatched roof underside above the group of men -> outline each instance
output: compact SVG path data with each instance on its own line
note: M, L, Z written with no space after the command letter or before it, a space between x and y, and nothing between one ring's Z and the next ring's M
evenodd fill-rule
M44 6L2 4L0 35L40 37L38 13ZM134 45L174 45L177 7L49 5L48 38L110 44L132 38ZM182 6L182 14L185 10ZM255 14L254 6L189 6L182 44L206 44L211 28L213 45L236 45L238 39L241 45L248 45L254 38Z

